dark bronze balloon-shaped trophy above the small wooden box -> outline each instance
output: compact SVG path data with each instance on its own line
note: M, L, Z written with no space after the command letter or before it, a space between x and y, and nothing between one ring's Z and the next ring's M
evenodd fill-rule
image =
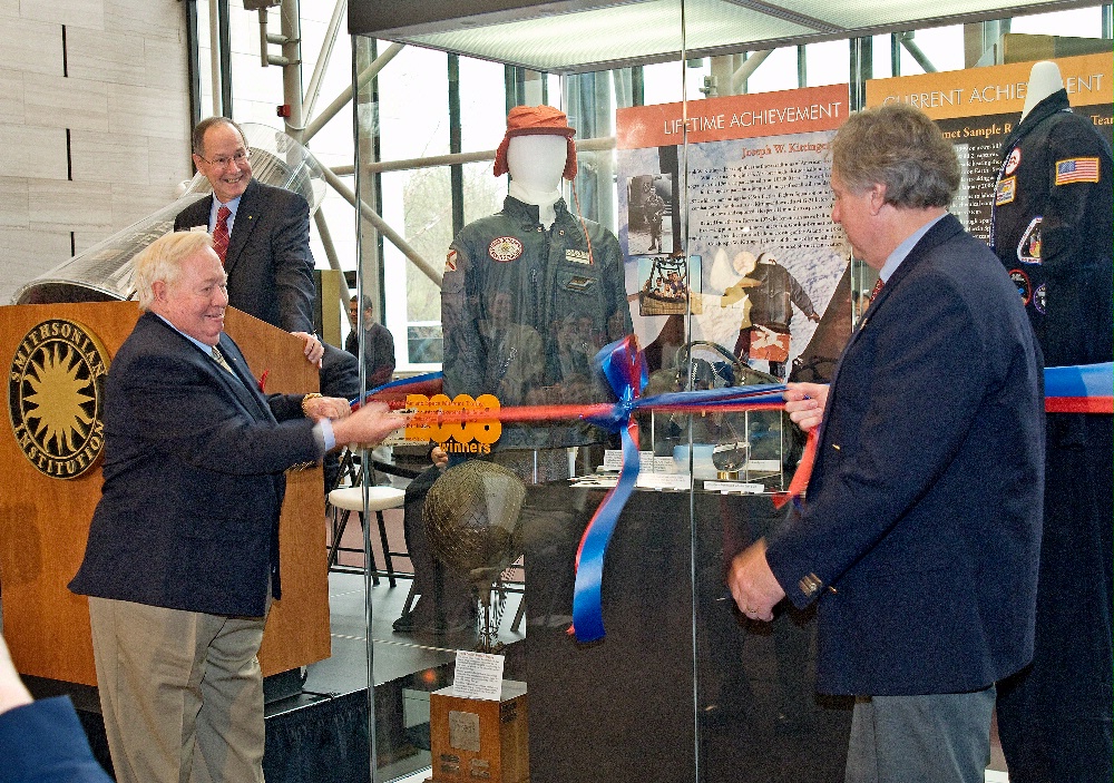
M433 556L475 588L483 607L481 647L502 615L502 572L522 554L519 512L526 486L502 466L468 460L449 468L426 497L422 521ZM492 605L491 593L498 599Z

